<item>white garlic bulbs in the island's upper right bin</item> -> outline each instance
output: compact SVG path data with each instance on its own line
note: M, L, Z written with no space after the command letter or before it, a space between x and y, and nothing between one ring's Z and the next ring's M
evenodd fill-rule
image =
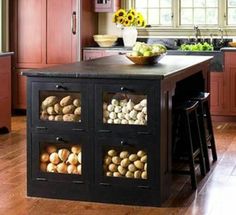
M147 99L134 103L131 99L112 99L103 103L103 122L109 124L147 124Z

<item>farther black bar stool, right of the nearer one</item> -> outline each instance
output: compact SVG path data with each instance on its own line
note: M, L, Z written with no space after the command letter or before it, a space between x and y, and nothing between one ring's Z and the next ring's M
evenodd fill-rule
M191 98L191 100L199 102L198 121L201 132L203 152L205 156L205 165L207 171L210 170L208 149L211 149L213 161L217 160L215 138L209 109L209 98L210 98L210 93L206 92L201 92L199 95Z

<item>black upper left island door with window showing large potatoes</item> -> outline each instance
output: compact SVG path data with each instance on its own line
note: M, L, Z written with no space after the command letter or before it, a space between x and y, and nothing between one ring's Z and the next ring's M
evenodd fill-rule
M32 82L32 127L40 130L85 131L88 125L87 85Z

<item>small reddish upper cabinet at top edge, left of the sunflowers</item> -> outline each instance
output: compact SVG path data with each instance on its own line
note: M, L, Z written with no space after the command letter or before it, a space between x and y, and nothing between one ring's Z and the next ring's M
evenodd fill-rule
M120 8L120 0L95 0L95 12L114 12Z

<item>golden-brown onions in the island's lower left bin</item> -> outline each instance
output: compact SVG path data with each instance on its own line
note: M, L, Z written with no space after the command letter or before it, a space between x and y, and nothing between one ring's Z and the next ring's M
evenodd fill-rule
M40 170L51 173L82 174L82 151L79 145L69 149L48 145L40 154Z

